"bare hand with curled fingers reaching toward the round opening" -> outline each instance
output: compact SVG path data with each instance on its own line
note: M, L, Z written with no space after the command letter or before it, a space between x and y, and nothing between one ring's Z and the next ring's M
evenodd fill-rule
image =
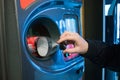
M80 53L85 54L88 51L88 43L78 33L64 32L60 39L57 41L58 44L64 41L74 41L74 48L66 48L64 53Z

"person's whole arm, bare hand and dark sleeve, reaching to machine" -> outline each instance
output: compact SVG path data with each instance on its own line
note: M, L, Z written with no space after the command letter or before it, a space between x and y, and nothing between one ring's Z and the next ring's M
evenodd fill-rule
M120 71L120 45L109 45L100 41L86 41L79 34L71 32L63 33L57 42L61 43L66 40L74 41L75 47L65 49L64 53L79 53L101 67Z

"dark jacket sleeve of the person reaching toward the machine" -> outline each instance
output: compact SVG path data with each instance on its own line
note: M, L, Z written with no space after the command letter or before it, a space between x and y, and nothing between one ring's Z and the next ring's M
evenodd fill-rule
M120 72L120 45L88 41L88 52L83 55L93 63Z

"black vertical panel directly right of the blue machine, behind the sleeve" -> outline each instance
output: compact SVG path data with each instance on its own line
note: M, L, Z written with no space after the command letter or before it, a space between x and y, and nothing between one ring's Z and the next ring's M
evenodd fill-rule
M85 0L85 38L102 40L103 0ZM102 80L102 68L85 60L85 80Z

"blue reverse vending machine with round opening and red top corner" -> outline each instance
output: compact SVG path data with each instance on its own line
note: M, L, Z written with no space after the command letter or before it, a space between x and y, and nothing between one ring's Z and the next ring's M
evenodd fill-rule
M56 41L64 31L82 35L81 0L17 0L23 80L82 80L84 59L71 41Z

